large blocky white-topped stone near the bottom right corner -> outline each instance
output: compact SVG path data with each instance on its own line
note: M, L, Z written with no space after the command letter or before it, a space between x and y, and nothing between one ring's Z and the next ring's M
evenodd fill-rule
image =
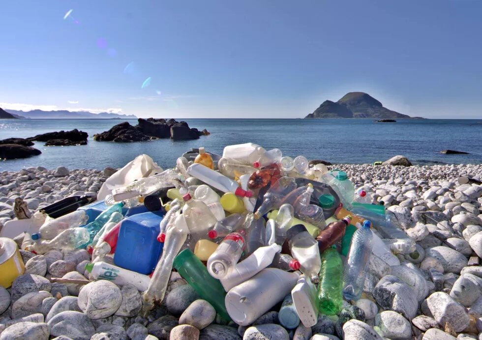
M435 292L430 295L427 306L433 318L444 328L448 323L455 332L461 332L469 325L465 308L446 293Z

